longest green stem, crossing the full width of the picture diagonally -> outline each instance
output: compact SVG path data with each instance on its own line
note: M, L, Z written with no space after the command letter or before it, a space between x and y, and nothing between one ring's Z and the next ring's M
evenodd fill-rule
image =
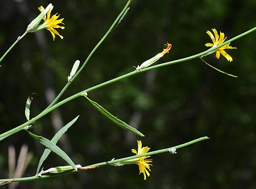
M198 53L197 55L193 55L193 56L190 56L190 57L187 57L187 58L183 58L183 59L179 59L179 60L175 60L175 61L170 61L170 62L158 64L158 65L151 66L151 67L147 67L147 68L144 68L144 69L141 69L141 70L135 70L135 71L132 71L132 72L130 72L130 73L126 73L126 74L124 74L124 75L121 75L121 76L119 76L119 77L116 77L116 78L114 78L114 79L108 80L107 82L104 82L104 83L101 83L101 84L96 85L96 86L94 86L94 87L91 87L91 88L89 88L89 89L86 89L86 90L83 90L83 91L81 91L81 92L78 92L78 93L76 93L76 94L74 94L74 95L72 95L72 96L70 96L70 97L68 97L68 98L66 98L66 99L64 99L64 100L62 100L62 101L56 103L55 105L49 107L48 109L46 109L45 111L41 112L39 115L37 115L36 117L34 117L34 118L32 118L31 120L27 121L26 123L24 123L24 124L22 124L22 125L19 125L19 126L13 128L13 129L11 129L11 130L9 130L9 131L7 131L7 132L4 132L3 134L0 134L0 141L2 141L3 139L5 139L5 138L11 136L11 134L13 134L13 133L15 133L15 132L18 132L18 131L20 131L20 130L23 130L24 127L26 127L27 125L30 125L30 124L33 123L34 121L36 121L36 120L38 120L39 118L45 116L45 115L48 114L49 112L51 112L51 111L53 111L54 109L56 109L58 106L60 106L60 105L62 105L62 104L65 104L65 103L67 103L68 101L73 100L74 98L77 98L77 97L79 97L79 96L83 96L83 95L84 95L84 92L91 92L91 91L93 91L93 90L96 90L96 89L99 89L99 88L101 88L101 87L104 87L104 86L110 85L110 84L112 84L112 83L115 83L115 82L117 82L118 80L121 80L121 79L123 79L123 78L136 75L136 74L138 74L138 73L142 73L142 72L149 71L149 70L152 70L152 69L156 69L156 68L160 68L160 67L164 67L164 66L169 66L169 65L172 65L172 64L177 64L177 63L186 62L186 61L189 61L189 60L192 60L192 59L200 58L200 57L202 57L203 55L205 55L206 53L211 52L211 51L214 51L214 50L216 50L216 49L222 47L223 45L225 45L225 44L227 44L227 43L229 43L229 42L232 42L232 41L234 41L234 40L237 40L237 39L239 39L239 38L241 38L241 37L243 37L243 36L245 36L245 35L247 35L247 34L253 32L253 31L255 31L255 30L256 30L256 27L254 27L254 28L251 29L251 30L248 30L247 32L245 32L245 33L243 33L243 34L240 34L240 35L238 35L238 36L236 36L236 37L234 37L234 38L232 38L232 39L226 41L225 43L222 43L221 45L218 45L218 46L216 46L216 47L214 47L214 48L210 48L210 49L208 49L208 50L206 50L206 51L203 51L203 52L201 52L201 53Z

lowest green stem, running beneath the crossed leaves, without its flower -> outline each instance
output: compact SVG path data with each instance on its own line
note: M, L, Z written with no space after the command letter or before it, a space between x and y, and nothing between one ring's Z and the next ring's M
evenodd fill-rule
M206 140L206 139L209 139L209 138L208 137L201 137L199 139L196 139L196 140L193 140L193 141L190 141L190 142L178 145L178 146L174 146L174 147L171 147L171 148L165 148L165 149L162 149L162 150L156 150L156 151L152 151L152 152L143 153L143 154L140 154L140 155L133 155L133 156L130 156L130 157L124 157L124 158L115 159L115 160L111 160L111 161L104 161L102 163L93 164L93 165L86 166L86 167L83 167L83 168L101 167L101 166L106 166L106 165L111 165L111 164L114 164L114 163L118 163L119 161L125 161L125 160L130 160L130 159L134 159L134 158L138 158L138 157L143 157L143 156L148 156L148 155L156 155L156 154L164 153L164 152L170 152L170 149L183 148L185 146L188 146L188 145L191 145L191 144L194 144L194 143ZM83 170L80 169L78 171L83 171ZM7 181L12 181L12 182L30 181L30 180L50 178L50 177L55 177L55 176L60 176L60 175L65 175L65 174L70 174L70 173L76 173L76 171L72 170L72 171L62 172L62 173L58 173L58 174L46 174L46 175L41 175L40 177L35 175L35 176L32 176L32 177L0 179L0 184L1 184L1 182L7 182Z

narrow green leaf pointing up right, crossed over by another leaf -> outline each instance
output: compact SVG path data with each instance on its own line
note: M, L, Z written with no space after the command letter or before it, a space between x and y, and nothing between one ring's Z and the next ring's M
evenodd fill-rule
M52 138L51 142L53 144L56 144L58 142L58 140L60 139L60 137L62 136L62 134L64 134L70 127L71 125L73 125L76 120L78 119L79 116L77 116L75 119L73 119L71 122L69 122L67 125L63 126L61 129L59 129L59 131L55 134L55 136ZM46 160L46 158L48 157L48 155L50 154L51 150L49 148L46 148L44 153L42 153L42 156L39 160L38 166L37 166L37 170L36 170L36 175L39 173L39 170L42 166L42 163L44 163L44 161Z

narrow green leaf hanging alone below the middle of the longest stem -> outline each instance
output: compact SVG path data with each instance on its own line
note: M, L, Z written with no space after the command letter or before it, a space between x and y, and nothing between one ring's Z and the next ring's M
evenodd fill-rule
M93 104L93 106L95 107L95 109L97 111L99 111L100 113L102 113L104 116L106 116L107 118L109 118L111 121L113 121L115 124L119 125L120 127L129 130L135 134L137 134L140 137L145 137L144 134L142 134L140 131L138 131L137 129L131 127L130 125L126 124L125 122L123 122L122 120L118 119L117 117L113 116L111 113L109 113L108 111L106 111L101 105L99 105L98 103L92 101L90 98L88 98L87 96L85 96L89 102L91 102Z

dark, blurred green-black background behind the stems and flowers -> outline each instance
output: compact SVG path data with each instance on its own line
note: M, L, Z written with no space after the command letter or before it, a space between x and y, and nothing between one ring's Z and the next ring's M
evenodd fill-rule
M0 4L1 55L22 35L48 1L10 1ZM46 94L58 92L75 60L81 63L108 30L126 0L52 1L52 13L65 18L64 37L49 31L28 34L8 54L0 68L1 133L26 121L28 96L36 92L31 116L48 105ZM256 2L231 0L170 1L134 0L121 24L98 48L89 64L62 96L134 70L155 56L168 41L173 47L158 63L207 49L205 33L216 28L230 39L255 26ZM137 141L157 150L208 136L211 139L153 156L151 176L143 180L136 165L101 167L50 179L24 182L19 188L256 188L255 168L255 43L251 33L228 50L233 62L212 54L205 60L238 78L221 74L199 59L126 78L95 90L97 101L123 121L145 134L139 138L100 115L84 98L62 105L37 121L34 133L51 139L59 126L77 115L78 121L58 145L83 166L132 155ZM16 154L27 144L34 156L24 176L33 176L44 148L25 131L0 145L0 178L8 177L8 146ZM43 167L66 165L51 153Z

